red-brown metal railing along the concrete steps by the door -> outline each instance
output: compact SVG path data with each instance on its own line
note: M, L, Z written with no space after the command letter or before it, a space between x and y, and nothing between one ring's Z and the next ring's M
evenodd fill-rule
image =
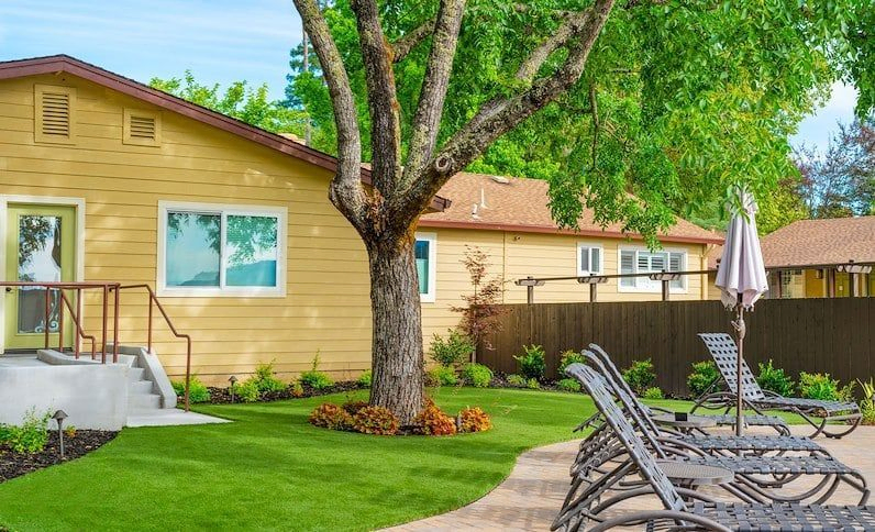
M76 328L76 337L73 342L74 347L74 355L76 359L79 359L79 340L90 340L91 341L91 359L96 359L97 357L97 348L96 342L97 339L91 334L86 334L81 323L82 317L82 290L89 289L99 289L102 291L102 306L103 306L103 315L102 315L102 324L101 324L101 342L100 342L100 352L101 357L100 361L102 364L107 363L107 340L109 336L109 298L110 293L112 293L113 298L113 312L112 312L112 362L119 362L119 296L122 290L128 289L137 289L137 288L145 288L148 292L148 328L147 328L147 348L149 353L152 353L152 330L153 330L153 308L157 307L158 311L164 317L164 321L170 329L170 332L174 336L178 339L184 339L186 341L186 412L189 411L189 386L191 384L191 336L188 334L182 334L177 331L176 326L174 326L170 317L167 314L167 311L164 310L164 306L158 300L157 296L155 296L155 291L152 290L152 287L148 285L128 285L122 286L120 282L38 282L38 281L0 281L0 287L7 287L8 291L11 291L13 288L42 288L45 290L45 348L49 348L49 334L54 334L52 332L51 326L51 319L52 319L52 304L51 304L51 297L52 292L58 293L58 323L57 323L57 335L58 335L58 351L64 352L64 313L65 309L69 311L70 319L73 320L73 324ZM70 302L69 298L65 293L65 290L75 290L76 291L76 308L74 308L73 303Z

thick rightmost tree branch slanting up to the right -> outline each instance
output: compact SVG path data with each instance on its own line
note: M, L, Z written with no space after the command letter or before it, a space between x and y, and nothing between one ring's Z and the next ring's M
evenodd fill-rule
M444 144L411 189L410 201L424 209L428 201L456 173L479 157L499 136L519 125L580 78L589 52L601 33L616 0L596 0L568 38L568 57L551 76L538 79L522 92L485 103L477 114ZM412 209L411 209L412 210Z

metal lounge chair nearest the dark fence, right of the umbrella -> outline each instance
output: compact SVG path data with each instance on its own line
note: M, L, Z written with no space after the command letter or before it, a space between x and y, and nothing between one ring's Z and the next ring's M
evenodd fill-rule
M700 407L706 409L726 408L728 413L735 406L735 390L738 389L735 373L738 372L739 350L735 346L735 341L727 333L699 333L699 337L711 353L728 389L704 394L696 401L693 411ZM784 397L773 391L763 390L743 359L741 361L741 384L745 404L757 414L762 414L762 410L783 410L797 413L815 428L810 437L817 437L819 434L827 437L842 437L853 432L862 420L860 407L855 402ZM838 426L834 424L837 422L845 422L850 426L841 425L844 429L840 431L830 430L830 426Z

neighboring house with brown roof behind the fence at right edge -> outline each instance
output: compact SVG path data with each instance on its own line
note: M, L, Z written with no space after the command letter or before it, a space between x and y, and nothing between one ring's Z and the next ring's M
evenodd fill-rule
M851 296L845 265L875 265L875 217L799 220L760 239L768 273L766 298L843 298ZM708 255L716 269L722 246ZM709 280L710 299L720 299ZM854 275L854 296L875 296L875 274Z

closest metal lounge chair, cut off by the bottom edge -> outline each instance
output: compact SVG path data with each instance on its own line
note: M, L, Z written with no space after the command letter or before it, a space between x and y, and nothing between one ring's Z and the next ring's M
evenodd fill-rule
M584 364L573 364L566 369L586 388L606 423L621 444L629 461L634 464L647 486L634 490L620 491L607 497L601 490L600 498L566 498L554 520L551 530L582 530L594 516L599 516L616 505L649 495L655 495L664 509L630 511L596 522L589 529L601 532L614 527L646 522L647 530L657 527L668 530L715 530L728 531L875 531L875 507L863 506L821 506L798 503L727 503L711 500L707 496L675 487L663 470L660 462L635 432L606 387L605 379ZM602 484L610 485L610 480Z

